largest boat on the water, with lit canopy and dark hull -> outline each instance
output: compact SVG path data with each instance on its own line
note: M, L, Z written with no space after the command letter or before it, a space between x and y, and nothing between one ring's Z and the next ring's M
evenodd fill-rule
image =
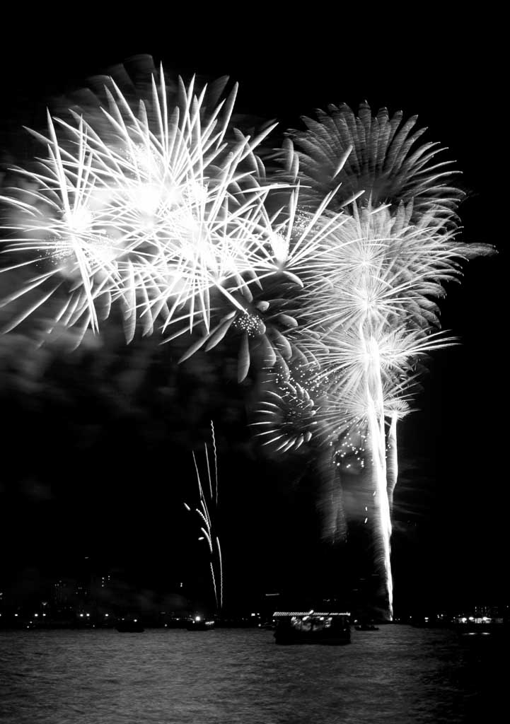
M350 644L350 615L346 611L275 611L275 643Z

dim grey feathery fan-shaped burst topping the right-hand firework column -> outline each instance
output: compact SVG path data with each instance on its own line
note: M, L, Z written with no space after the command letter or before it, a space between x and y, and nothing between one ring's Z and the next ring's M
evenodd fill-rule
M289 130L278 154L284 178L298 177L306 187L302 201L317 208L333 188L336 208L362 193L360 203L373 206L412 202L414 218L433 210L451 218L462 193L449 183L452 161L437 161L446 150L438 143L418 143L427 130L416 128L417 116L404 120L402 111L390 117L381 108L376 115L367 103L356 115L349 106L327 106L317 119L303 117L306 130Z

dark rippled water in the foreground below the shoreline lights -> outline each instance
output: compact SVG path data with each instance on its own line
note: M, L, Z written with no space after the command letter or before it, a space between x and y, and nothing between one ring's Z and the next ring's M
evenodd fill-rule
M497 636L407 626L346 647L257 629L2 631L0 722L489 724L506 718L502 654Z

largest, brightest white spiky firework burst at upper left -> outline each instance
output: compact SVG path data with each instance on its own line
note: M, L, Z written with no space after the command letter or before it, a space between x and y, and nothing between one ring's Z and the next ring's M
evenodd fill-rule
M46 158L20 169L22 192L1 197L15 211L10 268L35 269L4 303L41 290L9 329L64 287L53 319L83 331L98 329L114 302L128 340L137 318L145 334L178 313L208 330L212 288L237 308L235 290L279 268L280 235L264 208L270 186L254 174L254 148L270 127L227 141L235 90L204 119L205 89L197 96L193 81L180 81L168 107L161 72L137 113L110 80L100 117L48 117Z

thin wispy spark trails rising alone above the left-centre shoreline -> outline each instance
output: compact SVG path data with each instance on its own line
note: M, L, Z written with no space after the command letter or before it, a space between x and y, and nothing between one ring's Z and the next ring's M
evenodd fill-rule
M217 478L217 452L216 452L216 440L214 437L214 424L211 421L212 431L212 444L214 450L214 487L212 484L211 468L209 466L209 453L207 445L205 444L205 459L207 476L209 480L209 500L204 493L204 487L201 483L200 472L198 471L198 464L196 462L196 455L193 455L193 465L195 466L196 480L198 484L198 498L199 507L195 508L194 512L198 515L200 531L202 536L198 540L206 540L207 547L209 548L209 568L211 571L212 588L214 592L214 601L216 602L217 612L220 613L223 607L223 563L222 563L222 550L220 547L220 538L215 533L215 523L217 515L217 500L218 500L218 478ZM191 513L191 508L188 503L184 503L184 507ZM216 569L216 571L215 571ZM218 584L220 590L218 591Z

